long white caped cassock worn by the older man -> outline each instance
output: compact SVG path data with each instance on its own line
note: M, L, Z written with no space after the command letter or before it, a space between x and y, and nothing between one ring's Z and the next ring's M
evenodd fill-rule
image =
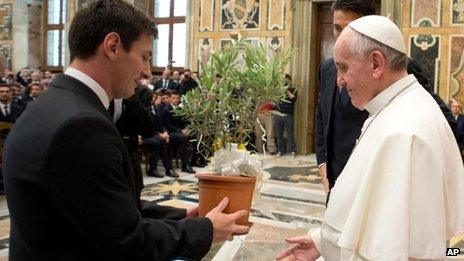
M443 113L413 75L365 109L316 246L326 261L444 259L464 231L464 168Z

